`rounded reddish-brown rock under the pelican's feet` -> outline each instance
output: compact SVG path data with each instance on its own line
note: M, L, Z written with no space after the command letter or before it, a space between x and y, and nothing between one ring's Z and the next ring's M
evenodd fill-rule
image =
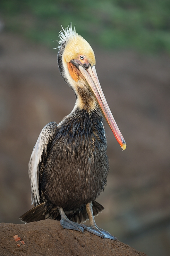
M87 231L62 229L60 222L55 220L0 223L0 255L147 256L118 240L101 239Z

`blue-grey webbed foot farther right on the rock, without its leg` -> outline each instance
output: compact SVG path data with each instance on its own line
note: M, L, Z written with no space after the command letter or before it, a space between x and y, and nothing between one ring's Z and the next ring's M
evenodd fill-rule
M88 227L88 226L82 224L82 226L84 227L84 230L87 230L88 232L90 232L94 235L97 235L101 238L109 238L112 240L117 240L117 238L115 236L113 236L109 232L99 228L97 225Z

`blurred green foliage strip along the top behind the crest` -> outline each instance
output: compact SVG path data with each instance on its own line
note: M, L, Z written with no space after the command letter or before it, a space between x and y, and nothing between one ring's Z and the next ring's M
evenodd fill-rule
M170 0L1 0L7 30L56 47L70 22L91 44L170 53Z

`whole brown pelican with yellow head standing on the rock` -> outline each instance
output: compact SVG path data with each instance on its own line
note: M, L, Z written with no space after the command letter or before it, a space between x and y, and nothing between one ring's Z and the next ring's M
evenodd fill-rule
M115 240L94 220L104 209L95 200L104 190L109 170L104 118L123 150L126 143L98 81L91 46L71 24L59 36L59 70L76 103L58 125L47 124L38 137L28 167L35 207L20 218L25 223L60 220L63 228ZM87 219L89 226L81 224Z

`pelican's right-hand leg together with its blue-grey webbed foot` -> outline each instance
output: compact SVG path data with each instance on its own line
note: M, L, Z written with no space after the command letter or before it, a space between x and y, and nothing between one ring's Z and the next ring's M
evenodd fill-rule
M111 235L109 232L99 228L94 220L93 215L93 204L92 202L86 204L86 210L89 216L89 227L83 224L83 227L85 230L89 231L90 233L100 236L101 238L109 238L112 240L117 240L117 238L113 235Z

